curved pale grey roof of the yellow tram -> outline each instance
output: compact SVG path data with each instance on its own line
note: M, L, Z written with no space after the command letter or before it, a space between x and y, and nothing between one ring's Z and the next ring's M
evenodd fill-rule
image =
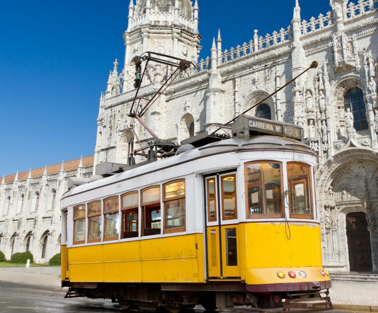
M239 139L239 138L230 138L223 139L220 141L212 142L204 146L195 148L191 145L184 145L181 147L186 147L184 152L180 153L180 150L177 151L175 156L166 158L160 161L148 163L145 165L132 167L125 172L114 174L103 179L95 180L92 182L85 183L83 185L72 188L67 193L64 194L64 198L75 195L77 193L82 193L94 188L99 188L104 185L113 184L130 177L140 176L142 174L153 173L165 168L172 167L185 162L190 162L191 160L196 160L210 155L222 154L227 152L242 152L246 150L281 150L281 151L298 151L298 152L307 152L314 154L314 152L302 141L272 136L272 135L262 135L262 136L253 136L248 139ZM274 155L272 155L274 158Z

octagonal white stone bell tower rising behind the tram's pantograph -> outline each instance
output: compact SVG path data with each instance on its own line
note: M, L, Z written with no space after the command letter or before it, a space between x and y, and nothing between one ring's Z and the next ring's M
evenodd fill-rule
M197 62L201 50L198 33L198 0L134 0L130 1L125 40L125 67L122 92L134 89L136 56L146 51ZM171 69L151 64L143 84L162 82Z

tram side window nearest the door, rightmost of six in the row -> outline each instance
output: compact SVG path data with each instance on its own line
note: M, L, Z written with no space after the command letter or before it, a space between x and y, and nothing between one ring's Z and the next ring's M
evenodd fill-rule
M163 186L164 233L185 231L185 180Z

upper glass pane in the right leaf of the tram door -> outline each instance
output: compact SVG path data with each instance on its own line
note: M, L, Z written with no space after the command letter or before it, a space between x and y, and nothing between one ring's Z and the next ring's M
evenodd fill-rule
M236 175L221 176L223 219L238 218L236 204Z

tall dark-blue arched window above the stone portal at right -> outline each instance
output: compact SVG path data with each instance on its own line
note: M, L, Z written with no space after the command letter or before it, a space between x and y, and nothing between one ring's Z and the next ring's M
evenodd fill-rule
M351 88L344 95L345 110L350 109L353 113L353 127L356 131L362 131L369 128L366 119L366 106L364 94L360 88Z

